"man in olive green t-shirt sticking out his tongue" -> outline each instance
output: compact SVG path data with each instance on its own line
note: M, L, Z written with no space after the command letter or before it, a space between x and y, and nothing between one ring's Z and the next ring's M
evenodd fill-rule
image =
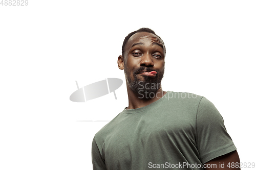
M93 168L240 169L215 106L203 96L162 90L164 58L165 45L151 29L124 39L118 67L129 106L95 134Z

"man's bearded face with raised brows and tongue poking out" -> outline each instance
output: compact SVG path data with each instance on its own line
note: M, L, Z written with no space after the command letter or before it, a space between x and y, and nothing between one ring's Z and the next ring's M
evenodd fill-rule
M130 37L123 56L124 74L134 92L144 96L157 92L164 74L164 55L163 42L156 35L140 32Z

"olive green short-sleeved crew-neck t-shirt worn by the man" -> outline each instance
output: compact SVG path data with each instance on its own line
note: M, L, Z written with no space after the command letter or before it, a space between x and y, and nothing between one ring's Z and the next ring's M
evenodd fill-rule
M193 93L168 91L158 101L124 109L95 134L94 170L203 169L236 150L216 107Z

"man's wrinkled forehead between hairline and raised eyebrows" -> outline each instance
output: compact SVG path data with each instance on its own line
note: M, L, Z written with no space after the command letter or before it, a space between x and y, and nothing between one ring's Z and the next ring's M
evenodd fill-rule
M135 33L134 35L132 35L129 38L129 40L127 41L127 44L126 44L126 50L131 48L131 46L134 43L143 42L143 41L144 42L147 41L147 43L157 42L157 43L163 44L162 40L158 36L156 36L152 33L139 32L139 33Z

